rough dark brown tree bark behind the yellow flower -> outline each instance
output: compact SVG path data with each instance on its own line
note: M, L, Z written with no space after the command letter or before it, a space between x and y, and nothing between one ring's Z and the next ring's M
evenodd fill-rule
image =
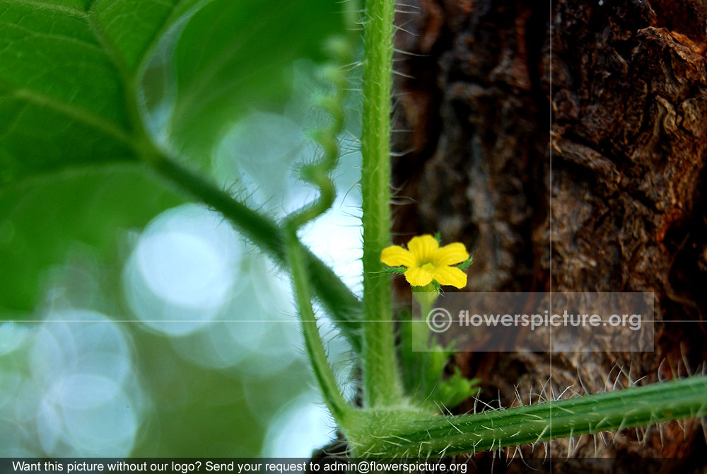
M549 378L558 395L696 369L707 357L707 2L404 3L415 13L397 18L397 47L412 54L396 62L396 243L435 231L464 242L469 291L653 291L660 320L655 352L460 353L457 365L506 406L516 385L537 401ZM615 458L552 470L705 462L699 422L606 441L551 443L553 457Z

